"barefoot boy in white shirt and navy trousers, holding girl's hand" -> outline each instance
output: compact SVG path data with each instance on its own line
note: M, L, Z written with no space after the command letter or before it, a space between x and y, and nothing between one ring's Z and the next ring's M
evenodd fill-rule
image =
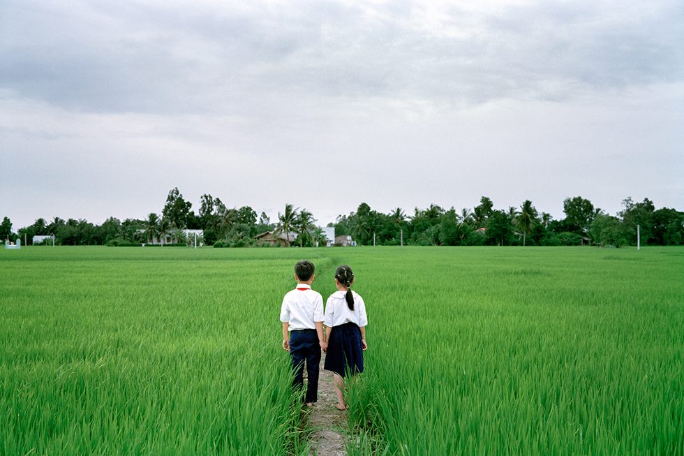
M306 396L304 403L311 407L318 400L318 365L323 340L323 298L311 289L315 278L311 261L302 260L295 265L297 288L283 297L281 322L283 323L283 349L290 351L295 379L292 388L304 387L304 360L306 360Z

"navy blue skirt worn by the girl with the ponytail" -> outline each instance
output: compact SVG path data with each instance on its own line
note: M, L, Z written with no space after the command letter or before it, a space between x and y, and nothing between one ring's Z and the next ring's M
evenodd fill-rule
M332 328L323 369L340 376L364 372L361 330L356 323L345 323Z

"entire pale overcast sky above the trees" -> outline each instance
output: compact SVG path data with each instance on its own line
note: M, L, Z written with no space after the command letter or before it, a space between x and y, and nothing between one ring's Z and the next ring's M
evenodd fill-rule
M0 3L0 216L684 210L684 2Z

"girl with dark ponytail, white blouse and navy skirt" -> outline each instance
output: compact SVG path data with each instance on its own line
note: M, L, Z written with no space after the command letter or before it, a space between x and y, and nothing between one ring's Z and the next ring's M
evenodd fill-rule
M366 304L361 296L351 290L354 283L352 268L341 265L335 271L337 291L325 303L325 324L327 351L323 369L333 372L337 405L347 409L342 390L346 374L364 372L366 344Z

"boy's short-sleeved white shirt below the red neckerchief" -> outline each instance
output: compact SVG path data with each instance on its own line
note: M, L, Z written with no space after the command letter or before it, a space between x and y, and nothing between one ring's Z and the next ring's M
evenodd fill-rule
M281 322L290 323L290 331L315 330L315 322L323 321L323 297L310 285L297 284L283 297Z

